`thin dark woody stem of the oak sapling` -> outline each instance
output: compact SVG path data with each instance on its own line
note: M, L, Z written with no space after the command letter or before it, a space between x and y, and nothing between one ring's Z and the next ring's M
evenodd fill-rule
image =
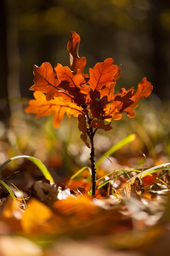
M91 125L91 118L87 115L88 125ZM95 167L95 154L94 154L94 135L97 131L97 128L94 130L93 127L88 128L87 134L91 143L91 177L92 177L92 196L96 198L96 167Z

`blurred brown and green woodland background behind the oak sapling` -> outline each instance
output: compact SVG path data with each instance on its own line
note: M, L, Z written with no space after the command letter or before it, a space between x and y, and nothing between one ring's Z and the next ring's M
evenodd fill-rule
M55 131L51 117L35 120L34 115L23 113L33 97L28 89L34 84L34 64L69 64L67 43L71 30L81 38L79 56L87 59L85 73L97 62L113 58L115 64L122 64L117 91L137 87L144 76L154 88L149 99L140 102L136 118L124 115L113 123L111 132L96 134L96 155L135 133L135 143L113 156L119 164L143 163L143 153L150 166L154 161L168 161L169 1L1 0L0 10L0 163L15 155L29 154L47 161L55 173L56 168L57 173L62 173L63 166L71 173L88 164L89 151L80 142L77 119L65 119ZM16 163L11 168L17 168Z

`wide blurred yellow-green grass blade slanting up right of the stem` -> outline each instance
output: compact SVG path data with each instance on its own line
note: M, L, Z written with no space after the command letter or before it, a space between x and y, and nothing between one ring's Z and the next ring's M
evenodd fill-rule
M111 147L108 151L106 151L105 154L103 154L102 157L100 157L100 159L97 161L96 169L99 169L99 167L101 166L102 161L105 159L105 156L109 157L111 154L115 153L117 150L119 150L123 146L125 146L128 143L135 140L135 138L136 138L135 134L130 134L129 136L127 136L125 139L121 140L116 145L113 145L113 147Z

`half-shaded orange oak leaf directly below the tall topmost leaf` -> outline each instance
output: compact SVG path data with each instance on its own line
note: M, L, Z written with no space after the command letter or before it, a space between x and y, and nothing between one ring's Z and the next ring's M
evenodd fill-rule
M90 87L86 84L88 78L82 77L81 70L73 72L69 67L62 67L58 63L55 66L55 72L61 81L59 86L72 97L72 101L78 106L85 106L86 92L90 90Z

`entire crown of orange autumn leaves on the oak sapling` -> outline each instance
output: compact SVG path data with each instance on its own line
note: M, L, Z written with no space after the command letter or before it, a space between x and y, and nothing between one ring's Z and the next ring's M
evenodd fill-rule
M55 128L59 127L64 113L69 117L71 114L77 116L79 130L82 131L80 137L90 148L87 137L94 132L93 128L110 131L111 123L105 125L104 120L111 122L113 119L121 119L123 112L134 117L133 110L138 106L139 100L149 96L153 87L143 78L135 94L133 87L129 90L122 88L119 93L114 94L122 66L113 65L113 59L107 58L89 69L88 78L88 75L83 74L86 59L79 58L78 55L79 42L79 35L71 31L68 41L70 68L58 63L53 70L48 62L41 67L34 66L34 85L30 90L46 93L48 102L45 101L44 94L34 94L36 100L29 102L26 112L36 113L36 118L53 114ZM88 130L86 117L91 131Z

